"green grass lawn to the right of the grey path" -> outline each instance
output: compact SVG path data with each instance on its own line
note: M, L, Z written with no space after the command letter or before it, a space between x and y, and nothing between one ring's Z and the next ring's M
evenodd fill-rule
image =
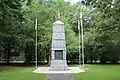
M75 80L120 80L120 65L86 65L87 72L73 74Z

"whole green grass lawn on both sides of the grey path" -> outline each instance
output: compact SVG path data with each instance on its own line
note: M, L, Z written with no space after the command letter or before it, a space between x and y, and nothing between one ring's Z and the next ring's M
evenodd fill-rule
M87 72L73 74L75 80L120 80L120 65L85 65ZM45 80L32 67L0 67L0 80Z

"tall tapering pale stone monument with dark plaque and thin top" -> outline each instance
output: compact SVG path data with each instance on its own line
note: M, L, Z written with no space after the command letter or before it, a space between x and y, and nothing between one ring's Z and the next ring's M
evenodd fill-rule
M50 70L64 71L67 67L64 23L58 10L58 20L53 23Z

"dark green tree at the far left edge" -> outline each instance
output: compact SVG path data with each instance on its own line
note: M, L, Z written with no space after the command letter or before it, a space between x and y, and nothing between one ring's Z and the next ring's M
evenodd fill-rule
M21 1L1 0L0 1L0 44L4 48L7 63L9 63L11 53L14 53L14 44L20 38L22 26ZM17 48L16 48L17 49Z

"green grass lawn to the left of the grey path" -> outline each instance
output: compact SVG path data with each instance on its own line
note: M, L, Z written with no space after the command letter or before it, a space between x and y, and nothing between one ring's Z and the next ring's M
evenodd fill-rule
M45 80L46 75L33 73L31 67L6 67L0 72L0 80Z

